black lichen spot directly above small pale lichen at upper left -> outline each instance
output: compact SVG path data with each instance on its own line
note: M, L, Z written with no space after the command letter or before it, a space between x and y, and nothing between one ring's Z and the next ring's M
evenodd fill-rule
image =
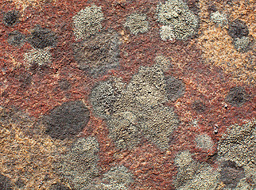
M44 49L45 47L56 45L56 34L47 28L41 28L41 26L37 25L33 28L28 41L33 47Z

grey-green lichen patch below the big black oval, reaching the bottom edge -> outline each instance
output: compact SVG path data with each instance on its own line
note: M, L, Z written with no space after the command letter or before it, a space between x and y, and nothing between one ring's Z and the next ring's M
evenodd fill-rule
M87 189L87 185L99 176L98 151L99 143L95 137L78 139L71 150L60 155L56 170L75 189Z

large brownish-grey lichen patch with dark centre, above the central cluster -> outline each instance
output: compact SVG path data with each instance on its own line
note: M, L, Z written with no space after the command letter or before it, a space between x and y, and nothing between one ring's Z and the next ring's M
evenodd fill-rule
M74 57L81 70L99 77L119 66L119 44L116 32L101 32L74 43Z

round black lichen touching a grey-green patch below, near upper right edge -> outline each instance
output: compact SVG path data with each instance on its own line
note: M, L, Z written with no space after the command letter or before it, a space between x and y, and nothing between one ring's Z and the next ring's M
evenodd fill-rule
M246 26L246 23L236 19L232 21L228 27L228 35L231 36L233 39L235 38L242 38L243 36L248 36L249 29Z

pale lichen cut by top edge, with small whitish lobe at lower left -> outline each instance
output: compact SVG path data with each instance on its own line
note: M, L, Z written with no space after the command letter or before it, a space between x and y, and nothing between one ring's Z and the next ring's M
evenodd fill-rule
M157 18L163 25L169 26L161 29L163 40L172 40L169 36L173 35L177 40L187 40L188 37L196 35L199 26L198 18L182 0L160 3L157 6Z

